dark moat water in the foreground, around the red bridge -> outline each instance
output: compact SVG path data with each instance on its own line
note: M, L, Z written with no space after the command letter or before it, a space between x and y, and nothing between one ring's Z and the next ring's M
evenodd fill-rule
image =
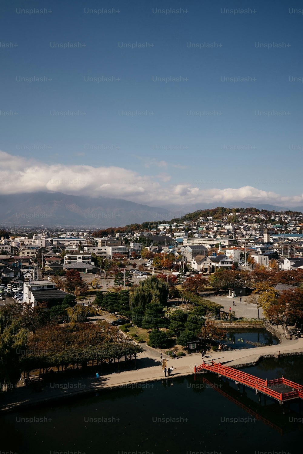
M303 384L303 357L266 360L245 371ZM0 418L1 454L303 451L298 401L288 408L261 395L259 403L254 390L237 390L211 373L131 386L7 413Z

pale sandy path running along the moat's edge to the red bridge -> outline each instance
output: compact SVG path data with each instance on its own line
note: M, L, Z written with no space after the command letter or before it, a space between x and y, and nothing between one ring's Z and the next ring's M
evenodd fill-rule
M143 344L144 347L145 344ZM32 391L27 387L17 388L14 393L9 395L3 395L1 402L2 410L17 410L20 405L33 405L35 403L44 403L48 400L61 399L65 396L75 396L77 394L83 394L87 391L98 391L104 388L112 387L127 387L136 388L142 387L142 383L153 380L163 380L164 373L159 358L151 355L151 349L145 350L140 353L136 360L130 365L131 370L123 370L118 372L118 365L116 365L116 371L110 372L107 375L101 375L100 380L96 382L92 376L83 376L68 380L58 380L54 384L45 386L45 388L37 394L33 394ZM154 350L153 350L154 351ZM205 361L214 359L215 362L221 361L222 364L229 366L242 366L243 364L250 364L256 362L260 355L274 355L280 351L281 354L285 353L298 353L303 354L303 338L294 339L289 341L283 341L282 344L271 345L268 347L258 347L251 349L242 350L231 350L226 352L207 352ZM174 367L174 377L180 377L182 375L191 375L194 372L194 365L200 365L202 358L200 354L186 355L182 358L168 358L167 365ZM136 366L136 369L134 367ZM120 363L121 369L123 363ZM285 377L287 378L287 377ZM147 385L144 385L147 387ZM151 386L151 385L150 385Z

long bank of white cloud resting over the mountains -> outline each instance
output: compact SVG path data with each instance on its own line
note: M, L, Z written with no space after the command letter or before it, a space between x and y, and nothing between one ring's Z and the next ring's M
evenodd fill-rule
M139 175L132 170L115 166L95 168L84 164L71 166L46 164L0 151L1 194L64 192L90 197L125 198L154 206L167 203L223 204L243 201L291 207L303 203L303 194L285 197L252 186L217 189L206 188L204 184L199 188L196 182L192 187L190 183L182 182L182 175L179 178L180 183L174 185L168 184L170 178L168 173L159 173L154 176Z

